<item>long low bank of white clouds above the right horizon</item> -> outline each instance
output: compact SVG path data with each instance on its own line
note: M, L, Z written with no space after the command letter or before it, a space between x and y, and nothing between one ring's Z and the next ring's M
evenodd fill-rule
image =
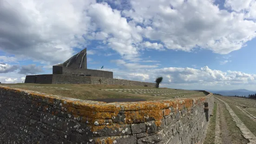
M162 76L164 85L255 85L256 75L237 71L212 70L208 66L201 68L165 67L159 69L109 69L115 77L154 82Z

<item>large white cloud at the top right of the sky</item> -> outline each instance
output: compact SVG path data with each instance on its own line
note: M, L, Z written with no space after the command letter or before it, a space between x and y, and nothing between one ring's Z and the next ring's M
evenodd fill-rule
M191 51L199 46L227 54L256 36L254 21L244 20L243 13L220 10L213 2L131 0L133 10L123 13L144 26L139 32L145 38L173 50Z

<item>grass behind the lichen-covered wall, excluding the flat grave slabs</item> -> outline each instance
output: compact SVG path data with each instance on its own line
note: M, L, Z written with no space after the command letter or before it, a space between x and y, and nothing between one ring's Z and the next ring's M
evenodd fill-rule
M115 91L103 91L102 89L152 89L152 90L170 90L172 91L187 91L187 90L176 90L169 88L155 88L155 87L145 87L137 85L85 85L85 84L0 84L11 86L12 88L18 88L23 90L42 92L46 94L59 95L70 98L78 99L96 99L96 98L141 98L145 100L157 100L157 99L169 99L177 95L160 95L160 96L151 96L144 94L133 94L127 92L115 92ZM57 87L57 88L54 88ZM58 88L66 88L69 90L62 90ZM192 91L191 91L192 92ZM204 95L199 93L194 95L194 97L199 97ZM205 96L205 95L204 95ZM181 97L183 98L183 97Z

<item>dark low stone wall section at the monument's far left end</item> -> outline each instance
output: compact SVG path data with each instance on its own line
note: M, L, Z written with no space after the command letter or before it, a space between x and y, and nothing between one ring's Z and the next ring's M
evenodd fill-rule
M24 83L52 84L52 74L27 75Z

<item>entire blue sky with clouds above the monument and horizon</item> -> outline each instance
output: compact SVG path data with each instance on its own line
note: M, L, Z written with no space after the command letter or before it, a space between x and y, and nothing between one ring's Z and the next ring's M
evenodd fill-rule
M0 82L87 68L182 89L256 91L256 0L0 0Z

